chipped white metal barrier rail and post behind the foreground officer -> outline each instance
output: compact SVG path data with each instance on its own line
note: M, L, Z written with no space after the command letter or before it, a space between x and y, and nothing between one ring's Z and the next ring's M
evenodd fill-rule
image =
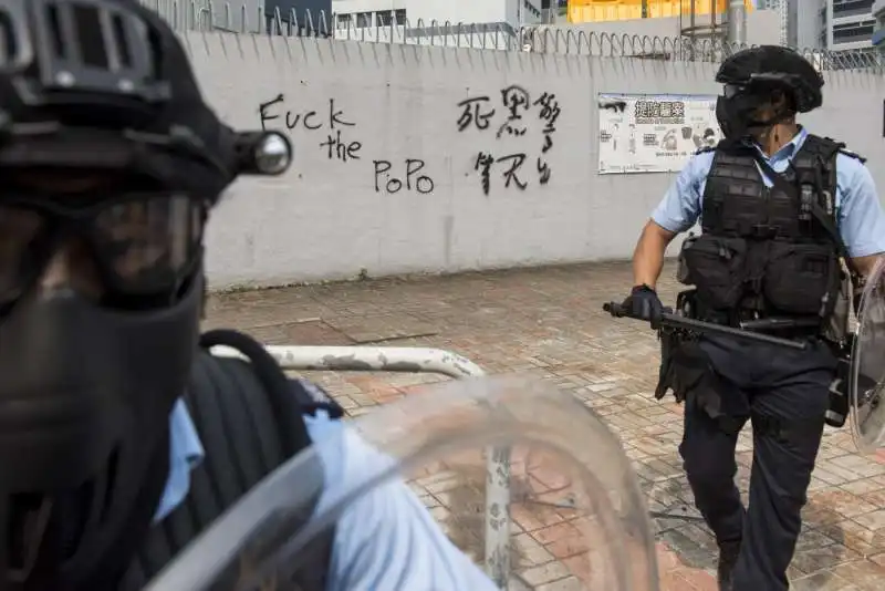
M405 346L277 346L268 351L287 371L437 373L456 380L485 375L472 361L441 349ZM225 346L212 353L241 356ZM510 578L510 449L486 450L486 572L502 590Z

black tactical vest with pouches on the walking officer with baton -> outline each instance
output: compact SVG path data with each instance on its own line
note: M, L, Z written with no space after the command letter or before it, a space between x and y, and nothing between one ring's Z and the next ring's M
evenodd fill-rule
M699 315L728 323L829 318L842 281L835 163L843 147L809 135L783 174L766 170L775 177L771 188L754 147L711 148L702 234L680 255L680 279L697 288Z

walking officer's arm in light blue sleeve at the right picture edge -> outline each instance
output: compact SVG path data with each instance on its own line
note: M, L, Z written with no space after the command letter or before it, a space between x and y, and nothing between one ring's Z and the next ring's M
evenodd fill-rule
M839 227L854 267L864 276L872 272L885 252L885 211L873 175L860 160L840 155L841 207Z

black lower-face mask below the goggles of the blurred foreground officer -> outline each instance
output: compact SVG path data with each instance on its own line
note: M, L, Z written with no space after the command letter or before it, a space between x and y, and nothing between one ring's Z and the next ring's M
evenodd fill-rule
M69 532L40 545L42 551L63 543L62 570L74 578L139 525L133 511L146 480L165 483L167 474L148 476L148 465L163 453L168 458L169 414L197 351L202 292L200 276L171 307L117 311L58 291L25 297L0 322L0 516L11 509L10 518L20 519L18 501L10 505L22 494L70 498L91 490L86 496L100 500L74 510L86 514L75 516L85 522L76 539ZM60 506L53 510L64 512ZM155 508L146 508L143 527ZM0 519L0 535L7 527Z

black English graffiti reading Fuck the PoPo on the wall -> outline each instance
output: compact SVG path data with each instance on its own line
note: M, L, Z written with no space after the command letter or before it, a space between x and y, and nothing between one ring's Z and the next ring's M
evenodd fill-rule
M287 106L285 96L278 94L260 103L258 114L264 131L275 127L290 134L319 135L320 153L330 160L350 163L363 158L365 146L356 139L358 126L336 105L335 98L329 98L329 104L322 110L292 110ZM434 179L426 168L427 163L420 158L406 158L402 163L386 158L373 159L371 174L375 193L433 193Z

